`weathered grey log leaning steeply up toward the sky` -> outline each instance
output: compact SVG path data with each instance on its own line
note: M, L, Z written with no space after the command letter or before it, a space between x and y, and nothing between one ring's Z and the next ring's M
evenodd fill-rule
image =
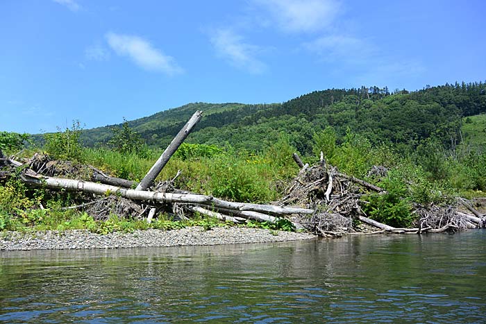
M165 164L167 164L171 156L176 153L177 148L181 146L182 142L184 142L184 139L187 137L187 135L189 135L189 133L191 133L192 128L194 127L194 125L196 125L196 123L201 119L202 116L203 112L201 112L200 110L194 112L194 114L189 119L189 121L187 121L185 126L179 131L176 137L172 139L171 144L169 144L169 146L165 148L164 153L160 155L157 162L153 164L149 172L146 173L146 176L137 185L137 190L149 189L149 187L153 184L153 181L156 180L160 171L162 171L162 169L165 167Z

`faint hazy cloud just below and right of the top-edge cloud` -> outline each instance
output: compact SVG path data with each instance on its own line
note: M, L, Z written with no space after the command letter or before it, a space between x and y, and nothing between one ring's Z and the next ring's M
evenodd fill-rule
M362 62L374 56L371 43L353 36L328 35L303 44L303 48L316 53L329 62Z

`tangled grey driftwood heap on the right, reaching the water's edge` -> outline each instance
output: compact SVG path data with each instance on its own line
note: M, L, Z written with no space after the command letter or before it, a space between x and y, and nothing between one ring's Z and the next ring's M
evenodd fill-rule
M417 221L414 228L394 228L369 219L362 210L367 202L362 197L370 194L386 194L386 191L364 180L348 176L335 167L326 164L321 153L321 161L309 167L303 164L298 155L294 160L301 167L286 195L279 205L298 204L315 210L309 216L299 216L295 220L303 227L323 237L336 237L349 233L368 231L371 233L425 233L455 232L467 228L485 228L486 214L481 214L462 198L458 206L424 207L414 205ZM383 178L387 170L384 167L373 167L369 178ZM464 207L467 211L459 211ZM472 213L472 214L471 214ZM363 228L360 223L369 225ZM371 227L370 227L371 226Z

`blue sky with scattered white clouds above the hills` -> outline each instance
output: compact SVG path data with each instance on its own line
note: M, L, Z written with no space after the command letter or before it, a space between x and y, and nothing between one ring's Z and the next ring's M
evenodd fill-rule
M486 79L486 1L0 1L0 130Z

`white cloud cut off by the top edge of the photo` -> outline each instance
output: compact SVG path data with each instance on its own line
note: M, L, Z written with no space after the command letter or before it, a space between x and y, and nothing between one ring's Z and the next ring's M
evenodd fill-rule
M287 32L315 32L333 23L340 12L335 0L254 0L264 7L278 27Z

